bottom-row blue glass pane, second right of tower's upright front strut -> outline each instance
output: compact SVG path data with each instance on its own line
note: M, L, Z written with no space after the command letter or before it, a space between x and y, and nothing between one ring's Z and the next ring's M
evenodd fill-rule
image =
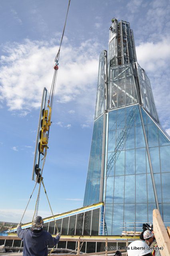
M123 204L115 204L113 209L113 228L112 232L116 235L122 234Z

